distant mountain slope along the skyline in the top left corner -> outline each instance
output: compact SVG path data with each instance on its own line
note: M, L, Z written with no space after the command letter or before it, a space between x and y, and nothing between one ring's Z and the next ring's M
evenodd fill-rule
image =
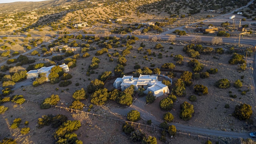
M0 13L30 11L36 8L47 8L58 5L68 5L73 2L86 2L87 0L47 0L42 2L11 2L0 4Z

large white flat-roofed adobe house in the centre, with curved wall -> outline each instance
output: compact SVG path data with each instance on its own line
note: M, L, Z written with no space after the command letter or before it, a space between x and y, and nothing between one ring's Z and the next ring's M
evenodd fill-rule
M142 75L138 78L134 78L133 76L123 76L122 78L116 78L114 82L115 88L120 88L124 91L126 88L128 88L131 85L134 85L135 90L138 90L138 88L144 88L144 93L148 93L151 91L154 96L159 97L163 94L170 93L170 90L168 86L162 84L161 81L158 81L157 75Z

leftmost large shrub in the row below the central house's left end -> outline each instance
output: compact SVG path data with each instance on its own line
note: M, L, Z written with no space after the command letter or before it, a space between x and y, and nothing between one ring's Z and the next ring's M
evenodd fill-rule
M98 89L91 95L91 102L95 105L101 106L108 100L108 89Z

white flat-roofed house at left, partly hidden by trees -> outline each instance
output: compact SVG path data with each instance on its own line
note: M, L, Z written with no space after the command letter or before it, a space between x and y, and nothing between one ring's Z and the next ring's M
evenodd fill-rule
M48 76L51 72L51 69L53 68L54 66L48 66L48 67L42 67L38 70L30 70L29 72L27 72L27 79L28 78L38 78L39 74L41 73L46 73L46 82L50 82L48 80ZM60 65L60 67L62 67L63 69L63 72L69 72L69 68L68 68L68 65L66 64L62 64Z

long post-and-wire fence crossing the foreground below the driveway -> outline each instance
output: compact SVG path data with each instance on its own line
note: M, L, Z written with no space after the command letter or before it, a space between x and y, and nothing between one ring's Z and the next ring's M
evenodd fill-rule
M35 104L40 104L40 102L36 102L36 101L33 101L33 100L26 100L27 103L28 102L32 102L32 103L35 103ZM122 120L122 119L118 119L118 118L112 118L112 117L107 117L107 116L102 116L100 114L94 114L94 113L90 113L90 112L85 112L85 111L82 111L82 110L76 110L76 109L73 109L73 108L67 108L67 107L64 107L64 106L55 106L55 105L51 105L51 108L59 108L60 110L64 109L68 112L75 112L75 113L80 113L80 114L84 114L86 115L87 117L92 117L92 118L98 118L99 120L104 120L104 121L110 121L110 122L117 122L117 123L121 123L121 124L124 124L125 122L133 125L135 128L144 128L145 130L147 131L159 131L161 132L162 128L159 128L157 125L147 125L147 124L141 124L141 123L137 123L137 122L131 122L131 121L128 121L128 120ZM185 132L176 132L176 136L178 137L183 137L183 136L186 136L187 138L191 138L191 139L195 139L195 140L198 140L198 141L203 141L203 142L206 142L207 140L210 140L211 142L218 142L218 144L226 144L225 142L223 142L222 140L220 139L217 139L217 138L210 138L209 136L206 137L206 136L201 136L201 135L195 135L195 134L190 134L190 133L185 133Z

